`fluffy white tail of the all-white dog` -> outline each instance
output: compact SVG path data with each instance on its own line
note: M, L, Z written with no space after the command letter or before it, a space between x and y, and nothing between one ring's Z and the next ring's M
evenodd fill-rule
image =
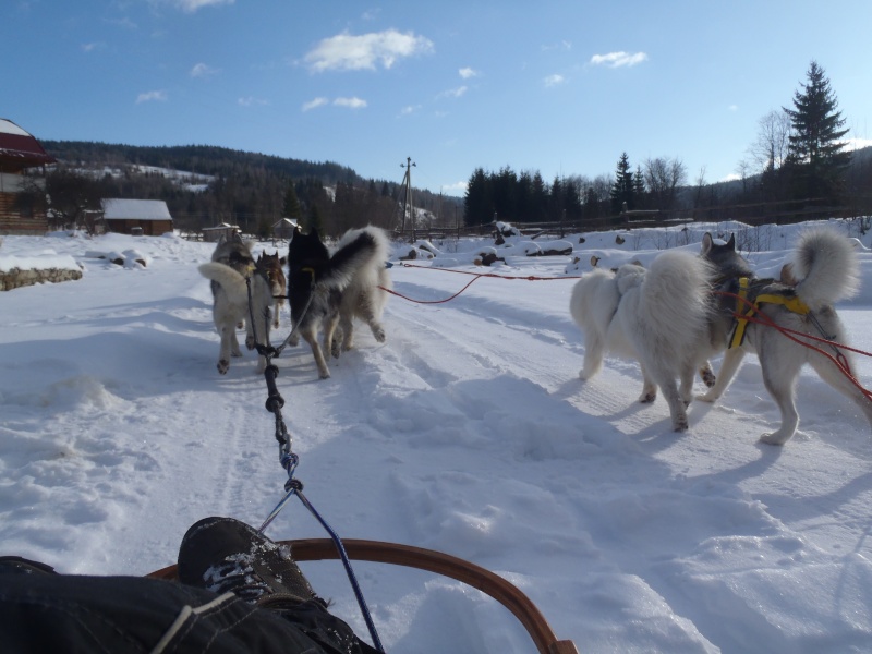
M649 268L639 295L639 317L651 344L665 356L685 358L692 343L700 342L711 314L708 262L685 251L666 251Z

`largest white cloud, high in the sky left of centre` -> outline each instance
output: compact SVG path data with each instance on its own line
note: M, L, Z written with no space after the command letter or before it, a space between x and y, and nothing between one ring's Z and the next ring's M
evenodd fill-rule
M391 68L399 59L433 51L433 41L412 32L396 29L352 36L343 33L322 40L305 61L315 72Z

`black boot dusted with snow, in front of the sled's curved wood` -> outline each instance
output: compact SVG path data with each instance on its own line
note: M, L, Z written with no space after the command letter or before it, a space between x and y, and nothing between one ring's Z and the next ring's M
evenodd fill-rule
M281 608L315 600L291 549L232 518L205 518L179 548L179 581L215 593L231 592L259 606Z

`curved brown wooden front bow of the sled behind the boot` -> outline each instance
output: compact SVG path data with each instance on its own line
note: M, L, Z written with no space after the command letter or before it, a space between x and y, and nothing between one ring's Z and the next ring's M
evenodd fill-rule
M299 538L280 541L280 543L290 546L296 561L339 558L339 553L330 538ZM533 639L540 654L578 654L579 652L571 640L557 640L545 617L526 595L512 583L481 566L434 549L397 543L343 538L342 544L349 558L354 560L426 570L479 589L502 604L518 618L530 638ZM174 581L177 579L175 566L162 568L152 572L148 577Z

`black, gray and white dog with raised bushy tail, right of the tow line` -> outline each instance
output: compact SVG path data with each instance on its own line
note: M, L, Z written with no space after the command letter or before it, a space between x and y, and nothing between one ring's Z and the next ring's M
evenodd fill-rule
M330 253L317 231L296 232L288 247L288 298L293 332L312 348L322 379L330 376L318 332L324 330L324 350L339 356L353 343L353 318L365 320L378 342L385 341L382 312L390 288L385 269L388 238L384 230L365 227L347 232ZM341 329L338 329L340 327ZM339 335L341 330L341 338Z

